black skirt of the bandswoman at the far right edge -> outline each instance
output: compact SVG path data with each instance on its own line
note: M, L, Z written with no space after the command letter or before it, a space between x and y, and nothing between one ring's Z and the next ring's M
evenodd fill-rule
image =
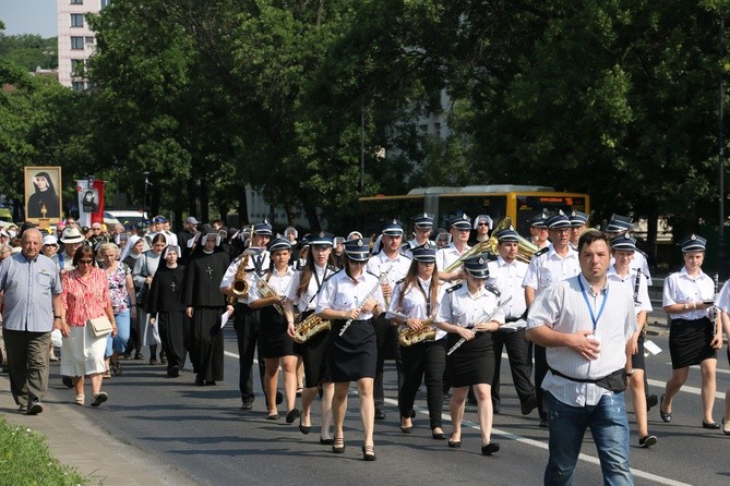
M669 353L672 356L672 369L684 368L717 357L713 341L713 321L702 319L672 319L669 328Z

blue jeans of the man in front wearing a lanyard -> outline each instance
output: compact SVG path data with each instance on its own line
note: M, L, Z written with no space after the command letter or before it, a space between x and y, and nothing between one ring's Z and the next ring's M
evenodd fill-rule
M550 392L544 396L550 426L550 460L544 471L546 485L573 483L587 427L590 427L598 449L603 484L634 484L629 466L629 420L623 393L605 394L594 406L571 406Z

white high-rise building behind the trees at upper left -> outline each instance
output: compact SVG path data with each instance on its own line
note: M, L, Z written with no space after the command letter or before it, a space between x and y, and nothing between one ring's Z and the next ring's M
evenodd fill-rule
M98 13L111 0L57 0L58 81L75 90L88 87L83 73L94 53L96 34L88 28L87 13Z

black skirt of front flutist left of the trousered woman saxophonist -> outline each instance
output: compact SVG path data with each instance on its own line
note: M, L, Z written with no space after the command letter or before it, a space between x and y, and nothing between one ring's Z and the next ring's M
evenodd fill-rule
M332 381L357 381L375 378L378 345L375 329L370 320L354 320L343 336L344 320L333 320L327 340Z

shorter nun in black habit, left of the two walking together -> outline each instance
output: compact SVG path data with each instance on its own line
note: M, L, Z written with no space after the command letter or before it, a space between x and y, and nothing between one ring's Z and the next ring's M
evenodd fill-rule
M156 319L163 350L167 355L167 375L180 376L186 364L192 324L186 315L183 281L186 267L179 265L180 246L168 245L163 251L164 264L157 267L147 294L149 321Z

